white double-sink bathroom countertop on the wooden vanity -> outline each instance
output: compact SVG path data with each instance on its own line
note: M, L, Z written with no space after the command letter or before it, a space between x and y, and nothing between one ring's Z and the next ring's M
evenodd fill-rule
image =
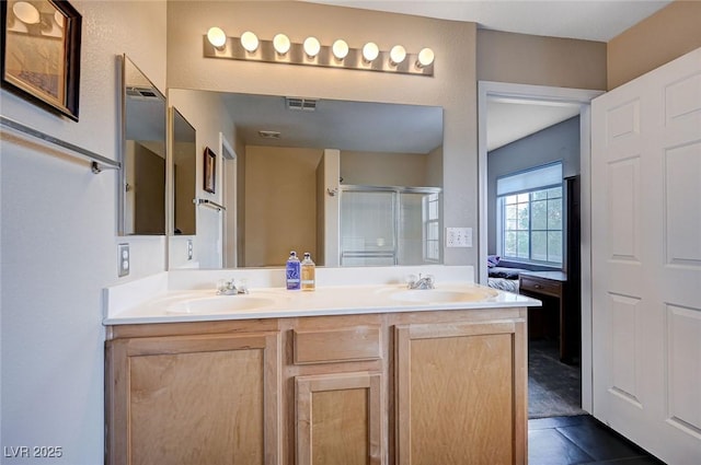
M131 305L122 305L117 312L107 312L103 323L125 325L541 305L540 301L525 295L464 281L438 283L435 290L405 291L404 284L397 283L324 286L314 291L255 288L245 295L216 295L214 289L161 288L160 292L138 303L135 301ZM251 302L256 307L248 307ZM235 309L241 305L246 309Z

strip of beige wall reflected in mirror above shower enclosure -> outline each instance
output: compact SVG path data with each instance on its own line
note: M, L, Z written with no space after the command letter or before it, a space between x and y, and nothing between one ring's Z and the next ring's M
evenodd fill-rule
M428 155L416 153L341 152L343 184L360 186L428 186Z

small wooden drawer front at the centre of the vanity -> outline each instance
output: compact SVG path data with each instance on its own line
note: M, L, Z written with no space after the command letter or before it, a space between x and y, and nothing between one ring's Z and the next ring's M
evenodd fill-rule
M379 360L382 353L375 326L294 330L294 336L296 364Z

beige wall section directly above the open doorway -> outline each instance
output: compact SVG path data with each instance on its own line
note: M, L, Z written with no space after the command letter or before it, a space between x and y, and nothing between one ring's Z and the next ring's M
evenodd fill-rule
M606 90L606 44L478 31L480 81Z

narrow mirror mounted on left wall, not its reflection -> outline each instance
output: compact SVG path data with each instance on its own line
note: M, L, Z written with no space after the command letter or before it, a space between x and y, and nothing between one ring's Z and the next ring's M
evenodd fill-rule
M119 233L165 234L165 97L124 55Z

